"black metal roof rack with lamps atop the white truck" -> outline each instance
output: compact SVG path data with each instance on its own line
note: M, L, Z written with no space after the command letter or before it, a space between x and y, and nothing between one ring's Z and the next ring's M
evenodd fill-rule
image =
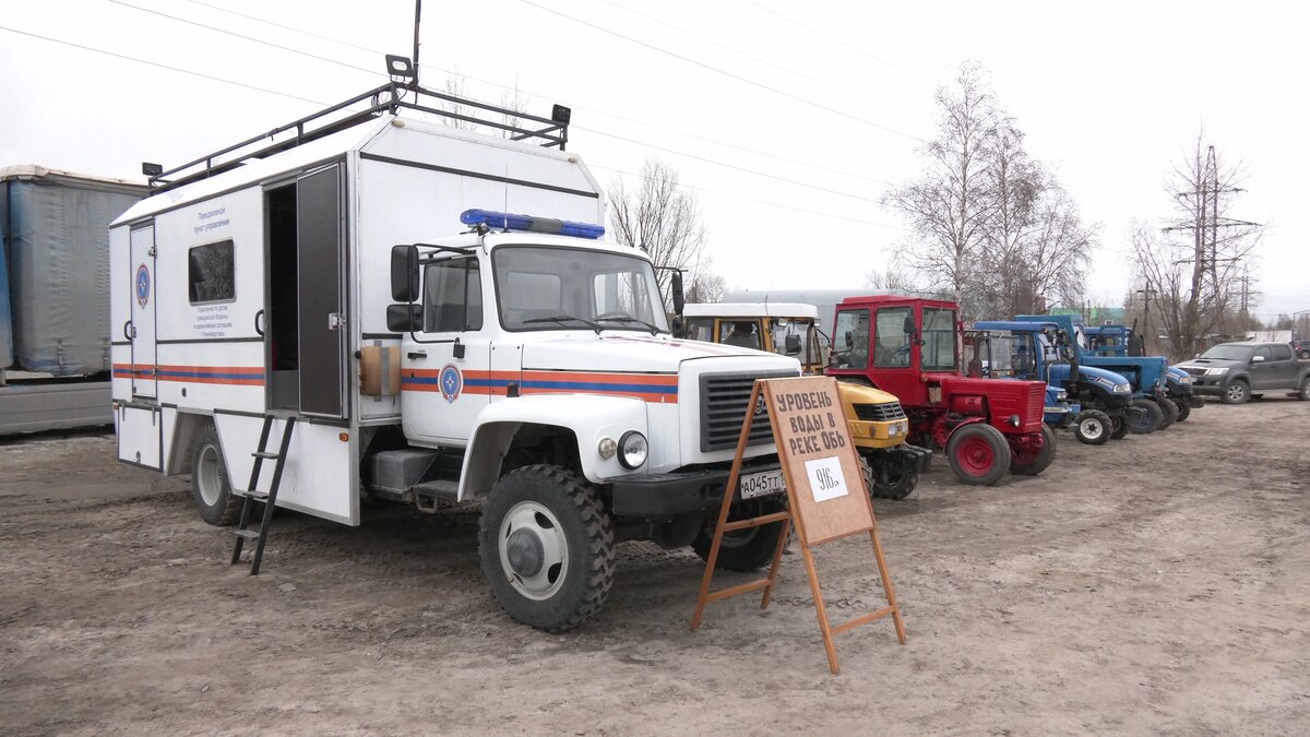
M406 100L409 93L414 93L413 100ZM431 100L424 100L431 98ZM439 101L452 104L452 109L444 109ZM365 104L364 109L351 110L352 105ZM143 164L141 173L149 176L152 193L166 191L182 185L206 180L241 167L252 159L265 159L274 153L280 153L295 148L303 143L325 138L348 127L358 126L383 114L397 114L400 110L417 110L455 121L464 121L478 126L487 126L510 134L510 140L536 140L545 148L565 149L569 143L569 118L571 111L563 105L555 105L550 111L550 118L529 115L519 110L487 105L476 100L466 100L419 87L413 81L390 81L362 94L356 94L345 102L338 102L325 108L312 115L299 121L272 129L266 134L242 140L241 143L208 153L194 161L187 161L179 167L164 170L156 164ZM468 109L468 113L456 110ZM490 113L500 119L490 119ZM511 125L514 121L517 125ZM533 123L540 129L528 129ZM282 138L284 136L284 138Z

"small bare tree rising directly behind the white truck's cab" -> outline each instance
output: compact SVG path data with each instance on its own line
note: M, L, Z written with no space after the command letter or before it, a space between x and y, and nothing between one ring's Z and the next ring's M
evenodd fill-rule
M672 274L668 269L690 271L703 262L705 226L696 195L683 189L677 172L655 159L642 165L635 185L624 177L609 186L609 222L614 240L650 254L658 270L660 294L669 294ZM668 304L668 300L665 302Z

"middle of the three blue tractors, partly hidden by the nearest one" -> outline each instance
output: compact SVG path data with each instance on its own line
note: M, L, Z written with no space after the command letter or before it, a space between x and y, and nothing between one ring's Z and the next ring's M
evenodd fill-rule
M1169 428L1178 420L1179 408L1169 399L1169 362L1158 355L1099 355L1091 350L1087 328L1078 315L1019 315L1020 323L1052 323L1069 338L1069 349L1077 351L1079 366L1104 368L1125 376L1133 388L1129 429L1133 433L1153 433Z

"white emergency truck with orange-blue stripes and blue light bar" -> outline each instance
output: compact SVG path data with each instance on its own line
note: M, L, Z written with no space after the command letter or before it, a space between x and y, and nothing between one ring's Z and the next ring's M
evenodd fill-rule
M748 412L738 515L781 509L747 400L799 365L671 336L646 254L599 240L567 109L486 115L495 138L432 122L452 113L428 96L393 83L147 165L156 194L110 229L118 456L191 473L200 517L240 522L233 563L258 540L255 572L258 502L359 525L364 493L424 511L485 497L495 597L569 629L604 603L617 540L707 553ZM777 536L734 532L719 563L758 568Z

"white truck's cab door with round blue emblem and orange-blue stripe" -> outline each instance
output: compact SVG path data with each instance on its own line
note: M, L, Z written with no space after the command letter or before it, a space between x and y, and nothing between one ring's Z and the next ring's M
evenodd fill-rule
M418 445L466 447L491 401L490 320L474 256L430 261L421 271L421 329L401 345L401 417Z

